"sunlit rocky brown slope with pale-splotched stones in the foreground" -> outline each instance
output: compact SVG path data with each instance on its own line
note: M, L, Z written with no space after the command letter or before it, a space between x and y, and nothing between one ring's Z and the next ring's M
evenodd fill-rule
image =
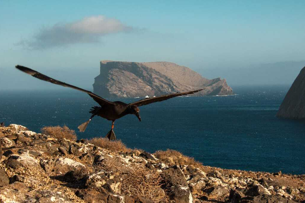
M0 202L305 200L304 175L203 166L173 150L111 151L87 140L56 139L16 124L0 127L0 142Z

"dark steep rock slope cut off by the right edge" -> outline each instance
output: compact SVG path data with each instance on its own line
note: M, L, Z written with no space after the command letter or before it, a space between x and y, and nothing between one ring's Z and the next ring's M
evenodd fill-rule
M279 110L278 117L305 118L305 67L301 70L287 92Z

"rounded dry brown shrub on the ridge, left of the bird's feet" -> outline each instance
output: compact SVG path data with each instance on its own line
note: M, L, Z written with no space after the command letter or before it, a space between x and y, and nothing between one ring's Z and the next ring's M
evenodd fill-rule
M75 141L77 136L74 130L69 129L66 125L63 127L57 126L45 126L41 128L41 132L45 135L49 135L56 139L66 138L68 140Z

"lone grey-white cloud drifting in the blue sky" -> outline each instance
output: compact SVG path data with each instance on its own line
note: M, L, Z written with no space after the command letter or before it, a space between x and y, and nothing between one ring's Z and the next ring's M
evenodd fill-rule
M91 16L72 23L57 23L52 27L42 28L32 40L24 40L19 44L32 49L45 49L76 43L96 43L101 36L133 29L117 19Z

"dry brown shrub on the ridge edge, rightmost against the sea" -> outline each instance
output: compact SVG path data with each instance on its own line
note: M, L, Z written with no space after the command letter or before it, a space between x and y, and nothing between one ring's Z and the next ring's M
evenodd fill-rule
M153 155L169 165L194 165L199 168L202 166L202 163L195 161L193 157L185 156L173 149L167 149L166 151L159 150L153 153Z

